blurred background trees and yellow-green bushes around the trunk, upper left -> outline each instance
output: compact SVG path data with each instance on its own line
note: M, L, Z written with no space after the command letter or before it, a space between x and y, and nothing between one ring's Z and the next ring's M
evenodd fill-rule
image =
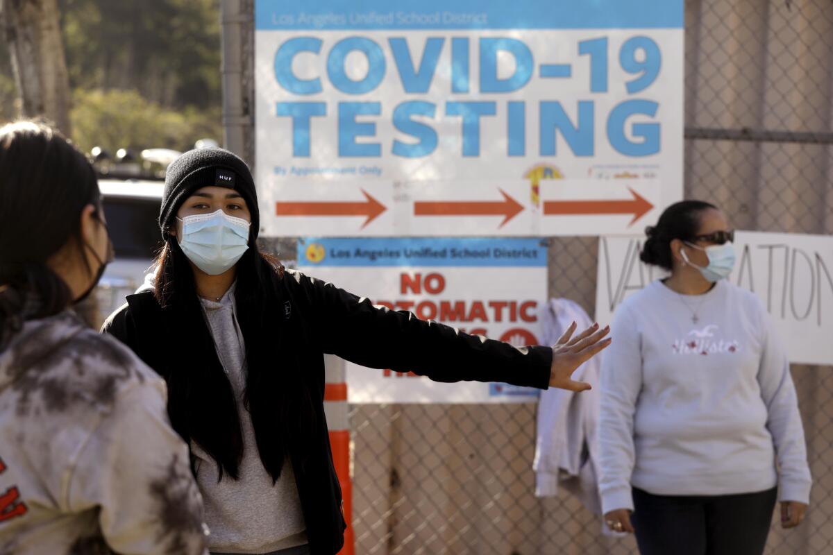
M220 0L58 0L72 138L112 154L222 141ZM0 121L17 116L0 39Z

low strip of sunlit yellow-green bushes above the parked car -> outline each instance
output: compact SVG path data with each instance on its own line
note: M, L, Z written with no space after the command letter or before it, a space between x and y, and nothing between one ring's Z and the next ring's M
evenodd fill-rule
M85 152L93 146L112 155L119 148L186 151L198 139L222 137L219 107L172 110L147 101L137 91L100 89L78 90L73 105L73 139Z

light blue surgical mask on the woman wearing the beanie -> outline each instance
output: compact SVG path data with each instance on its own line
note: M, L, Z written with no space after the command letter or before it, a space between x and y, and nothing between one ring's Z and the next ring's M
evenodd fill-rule
M249 248L251 224L222 210L177 220L182 221L182 252L208 275L226 272Z

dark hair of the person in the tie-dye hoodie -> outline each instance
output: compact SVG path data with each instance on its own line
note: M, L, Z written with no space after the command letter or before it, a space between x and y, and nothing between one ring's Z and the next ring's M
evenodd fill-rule
M82 249L81 213L100 201L95 171L60 133L36 121L0 128L0 345L23 320L72 303L47 260L67 240Z

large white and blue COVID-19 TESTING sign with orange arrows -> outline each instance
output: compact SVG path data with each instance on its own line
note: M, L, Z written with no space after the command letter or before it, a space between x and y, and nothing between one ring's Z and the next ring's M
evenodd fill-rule
M265 235L632 234L682 196L682 0L257 0Z

